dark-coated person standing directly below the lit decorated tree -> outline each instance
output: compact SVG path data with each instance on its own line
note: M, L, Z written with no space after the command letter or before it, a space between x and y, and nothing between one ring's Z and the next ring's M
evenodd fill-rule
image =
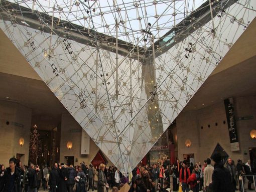
M28 185L28 192L37 192L38 187L38 177L37 173L39 171L39 167L35 169L35 165L33 163L30 163L30 168L28 172L28 179L29 179L29 185Z

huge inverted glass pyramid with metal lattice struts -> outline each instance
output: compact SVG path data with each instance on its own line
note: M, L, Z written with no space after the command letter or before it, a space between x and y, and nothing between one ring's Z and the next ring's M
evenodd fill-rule
M0 27L127 173L246 30L255 7L254 0L2 0Z

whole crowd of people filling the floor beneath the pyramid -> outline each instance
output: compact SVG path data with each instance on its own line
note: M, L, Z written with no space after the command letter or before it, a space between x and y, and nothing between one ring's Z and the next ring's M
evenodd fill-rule
M51 167L33 163L24 166L11 158L8 168L1 165L0 192L37 192L41 184L42 189L49 192L94 192L94 189L117 192L125 183L131 186L129 192L171 192L171 178L173 191L181 187L183 192L190 189L193 192L234 192L238 184L239 191L243 191L243 174L247 175L248 190L252 190L253 178L250 175L256 172L256 166L251 165L250 160L245 164L238 160L235 166L228 158L224 165L219 153L215 153L212 160L213 166L210 158L202 165L179 160L170 165L167 158L150 166L139 164L129 176L125 176L118 168L104 164L99 167L84 162L74 167L64 163L54 163Z

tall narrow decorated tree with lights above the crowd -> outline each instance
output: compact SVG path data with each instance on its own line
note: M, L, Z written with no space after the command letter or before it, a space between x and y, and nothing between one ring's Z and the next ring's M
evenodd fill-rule
M34 164L37 163L36 161L37 161L37 153L38 153L38 143L39 143L39 133L37 132L37 125L34 125L30 133L30 141L29 141L30 162Z

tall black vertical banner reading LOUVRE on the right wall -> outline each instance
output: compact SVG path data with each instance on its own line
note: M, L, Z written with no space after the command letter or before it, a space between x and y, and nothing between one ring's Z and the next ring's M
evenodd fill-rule
M227 126L229 132L231 151L239 151L239 142L236 131L235 114L233 107L233 98L225 99L225 110L227 116Z

